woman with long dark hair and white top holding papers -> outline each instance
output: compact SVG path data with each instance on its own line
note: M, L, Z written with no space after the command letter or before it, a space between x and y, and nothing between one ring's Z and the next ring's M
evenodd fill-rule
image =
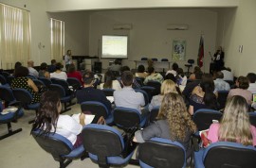
M60 115L62 103L57 92L44 92L40 101L40 108L36 114L32 130L40 129L41 134L58 133L69 140L74 147L82 144L80 133L85 125L83 113L80 114L80 123L69 115Z

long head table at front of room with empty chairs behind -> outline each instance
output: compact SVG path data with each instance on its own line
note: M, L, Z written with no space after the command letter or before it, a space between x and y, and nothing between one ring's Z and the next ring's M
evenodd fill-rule
M138 65L144 65L145 68L148 67L147 60L135 60L136 68ZM166 72L170 70L170 61L154 61L155 72Z

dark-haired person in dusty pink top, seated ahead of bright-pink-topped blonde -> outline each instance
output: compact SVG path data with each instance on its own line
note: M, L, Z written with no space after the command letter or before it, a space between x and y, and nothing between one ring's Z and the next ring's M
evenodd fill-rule
M229 91L228 98L233 96L233 95L241 95L247 100L247 104L251 104L251 99L252 99L252 93L248 91L248 86L249 86L249 81L246 76L239 76L236 80L237 86L236 89L231 89Z

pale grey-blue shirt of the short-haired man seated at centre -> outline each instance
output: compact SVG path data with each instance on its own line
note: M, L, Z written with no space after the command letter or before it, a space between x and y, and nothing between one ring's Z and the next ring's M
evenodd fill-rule
M123 87L120 91L115 91L114 101L116 107L137 109L140 113L140 107L145 106L143 94L135 92L131 87Z

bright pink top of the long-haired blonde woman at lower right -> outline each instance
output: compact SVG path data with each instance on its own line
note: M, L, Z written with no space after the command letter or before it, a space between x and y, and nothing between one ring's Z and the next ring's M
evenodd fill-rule
M220 125L219 124L211 124L208 132L208 140L210 140L211 143L216 143L219 141L218 138L218 130ZM256 145L256 127L250 126L250 131L252 134L252 143L255 146Z

